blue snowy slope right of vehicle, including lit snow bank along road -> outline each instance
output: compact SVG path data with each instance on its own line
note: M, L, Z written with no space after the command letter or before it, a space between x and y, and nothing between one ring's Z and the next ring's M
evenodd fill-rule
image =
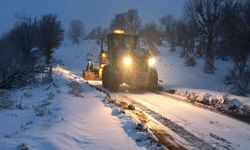
M175 89L176 94L202 103L227 101L229 105L226 107L241 109L245 105L250 108L250 98L230 94L230 87L224 82L233 67L230 60L216 59L215 73L206 74L203 71L204 59L197 59L194 67L187 67L185 59L179 57L178 50L173 53L166 44L160 47L160 51L156 67L165 90Z

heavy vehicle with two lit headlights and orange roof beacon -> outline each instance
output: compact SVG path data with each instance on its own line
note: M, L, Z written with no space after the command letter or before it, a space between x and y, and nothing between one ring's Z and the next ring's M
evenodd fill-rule
M108 64L102 69L102 86L117 91L120 84L157 90L156 59L149 50L139 48L138 35L114 30L107 36Z

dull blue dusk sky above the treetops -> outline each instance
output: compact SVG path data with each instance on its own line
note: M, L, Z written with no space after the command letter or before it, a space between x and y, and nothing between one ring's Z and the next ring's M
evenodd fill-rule
M80 19L86 30L90 30L97 25L108 26L115 14L130 8L138 9L144 23L156 22L166 14L180 18L184 2L185 0L1 0L0 34L13 26L17 13L31 16L56 13L64 27L71 20Z

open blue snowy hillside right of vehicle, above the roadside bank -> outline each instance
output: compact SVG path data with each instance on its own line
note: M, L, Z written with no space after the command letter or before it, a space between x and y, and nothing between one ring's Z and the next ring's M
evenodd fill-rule
M157 69L159 78L163 80L166 88L190 88L227 91L224 84L232 64L229 61L216 60L214 74L206 74L203 71L204 60L198 59L194 67L187 67L184 58L179 57L179 51L170 52L168 46L160 48L161 55Z

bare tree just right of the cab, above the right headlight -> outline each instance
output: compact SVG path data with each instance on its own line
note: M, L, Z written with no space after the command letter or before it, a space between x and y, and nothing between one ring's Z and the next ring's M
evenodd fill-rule
M155 23L146 24L140 31L140 35L144 44L153 53L157 53L157 48L162 44L162 36L157 25Z

